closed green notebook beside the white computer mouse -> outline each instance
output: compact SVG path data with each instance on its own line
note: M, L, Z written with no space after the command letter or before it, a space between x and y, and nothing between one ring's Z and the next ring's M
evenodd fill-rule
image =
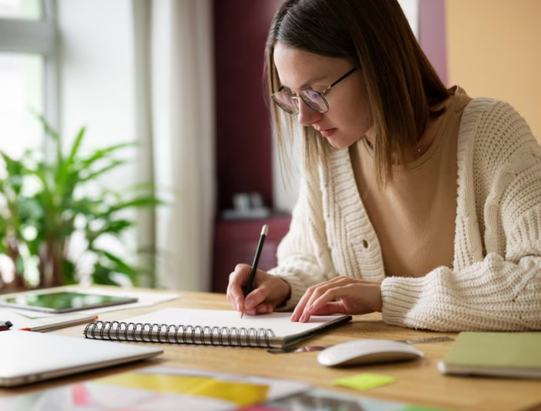
M541 379L541 332L461 332L443 374Z

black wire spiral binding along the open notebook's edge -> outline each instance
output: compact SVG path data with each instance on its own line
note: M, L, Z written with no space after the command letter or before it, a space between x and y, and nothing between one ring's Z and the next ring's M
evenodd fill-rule
M87 339L139 341L145 343L188 343L213 346L268 347L275 334L271 329L200 327L134 322L92 322L85 327Z

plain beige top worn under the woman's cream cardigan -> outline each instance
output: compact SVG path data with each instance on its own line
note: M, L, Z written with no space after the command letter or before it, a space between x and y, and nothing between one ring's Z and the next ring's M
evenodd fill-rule
M376 182L368 141L363 138L350 150L359 194L378 234L387 276L423 277L436 267L453 267L456 146L462 113L470 101L464 90L456 88L430 148L409 170L394 167L394 180L385 188Z

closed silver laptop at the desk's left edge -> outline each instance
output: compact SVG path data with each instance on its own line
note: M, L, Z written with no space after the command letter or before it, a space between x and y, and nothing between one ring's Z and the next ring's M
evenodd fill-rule
M155 357L161 348L33 331L0 331L0 386L11 387Z

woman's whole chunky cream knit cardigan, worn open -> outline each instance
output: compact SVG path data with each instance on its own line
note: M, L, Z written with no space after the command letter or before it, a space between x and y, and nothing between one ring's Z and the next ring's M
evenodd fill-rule
M290 232L270 270L291 286L283 310L337 275L382 282L383 321L435 331L541 329L541 146L507 103L473 99L458 140L454 264L385 277L349 151L305 167ZM415 241L415 239L412 239Z

